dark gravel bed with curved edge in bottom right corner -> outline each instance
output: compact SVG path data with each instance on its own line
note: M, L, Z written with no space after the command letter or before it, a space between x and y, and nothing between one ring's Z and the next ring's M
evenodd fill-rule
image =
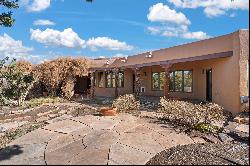
M164 150L146 165L249 165L247 144L192 144Z

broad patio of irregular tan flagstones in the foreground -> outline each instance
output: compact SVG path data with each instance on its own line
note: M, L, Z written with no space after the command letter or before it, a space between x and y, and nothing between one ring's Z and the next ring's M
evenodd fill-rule
M0 151L0 165L145 164L166 148L190 143L184 133L130 114L63 117L10 143L12 149Z

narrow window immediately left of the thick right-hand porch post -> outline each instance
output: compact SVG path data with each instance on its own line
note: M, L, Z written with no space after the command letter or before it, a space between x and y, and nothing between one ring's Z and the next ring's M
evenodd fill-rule
M153 90L164 89L164 77L165 77L165 72L152 73L152 89Z

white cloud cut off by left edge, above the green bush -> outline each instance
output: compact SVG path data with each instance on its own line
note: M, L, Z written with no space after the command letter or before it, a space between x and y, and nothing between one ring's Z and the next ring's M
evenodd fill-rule
M0 57L25 58L33 50L31 47L23 46L22 41L15 40L7 34L0 36Z

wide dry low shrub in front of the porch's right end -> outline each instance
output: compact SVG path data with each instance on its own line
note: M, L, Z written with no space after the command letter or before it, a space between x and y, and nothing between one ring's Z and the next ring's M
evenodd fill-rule
M161 98L158 112L165 119L176 123L195 127L198 124L210 124L214 120L224 120L224 109L214 103L193 104L186 101Z

